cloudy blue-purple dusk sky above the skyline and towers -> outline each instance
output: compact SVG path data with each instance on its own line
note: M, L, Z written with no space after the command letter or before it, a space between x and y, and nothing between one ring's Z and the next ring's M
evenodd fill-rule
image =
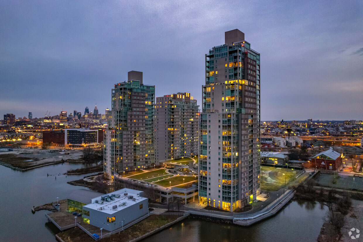
M111 108L143 72L202 104L205 53L240 29L261 54L261 120L363 120L363 1L0 1L0 114ZM2 119L1 116L0 119Z

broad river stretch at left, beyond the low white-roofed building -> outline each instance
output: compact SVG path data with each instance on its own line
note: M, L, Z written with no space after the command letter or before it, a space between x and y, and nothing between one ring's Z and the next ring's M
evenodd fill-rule
M33 206L65 199L72 191L85 188L68 181L87 176L65 176L67 170L85 164L63 163L20 172L0 165L0 241L56 241L57 227L48 223L46 210L32 213ZM47 173L52 176L47 176Z

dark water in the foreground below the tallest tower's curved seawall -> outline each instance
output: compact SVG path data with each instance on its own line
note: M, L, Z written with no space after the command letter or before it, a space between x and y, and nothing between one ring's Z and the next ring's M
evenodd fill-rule
M276 216L249 227L185 219L142 242L316 241L327 210L320 203L292 201Z

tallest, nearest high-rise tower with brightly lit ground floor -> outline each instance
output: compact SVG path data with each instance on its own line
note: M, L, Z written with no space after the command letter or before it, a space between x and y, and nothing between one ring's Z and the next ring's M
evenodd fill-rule
M260 54L234 29L205 61L199 202L234 211L260 195Z

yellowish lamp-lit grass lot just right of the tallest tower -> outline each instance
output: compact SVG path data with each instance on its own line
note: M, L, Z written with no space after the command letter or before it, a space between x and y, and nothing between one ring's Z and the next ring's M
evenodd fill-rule
M297 172L298 173L298 172ZM286 176L284 175L286 174ZM291 169L278 169L269 166L261 166L261 190L278 191L282 186L294 179L294 173Z

